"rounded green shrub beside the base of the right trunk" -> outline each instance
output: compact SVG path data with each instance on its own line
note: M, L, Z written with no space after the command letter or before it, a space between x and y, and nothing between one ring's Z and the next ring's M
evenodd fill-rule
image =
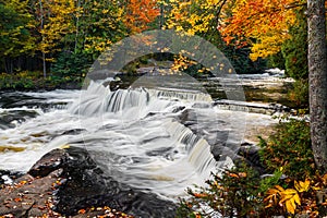
M310 140L310 123L305 120L280 121L277 132L267 141L261 138L261 159L268 170L283 168L293 179L315 174L315 164Z

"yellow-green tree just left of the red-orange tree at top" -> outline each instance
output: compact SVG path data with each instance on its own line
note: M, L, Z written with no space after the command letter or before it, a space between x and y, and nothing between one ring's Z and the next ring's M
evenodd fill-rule
M77 50L92 55L93 59L126 35L119 1L84 0L78 13Z

